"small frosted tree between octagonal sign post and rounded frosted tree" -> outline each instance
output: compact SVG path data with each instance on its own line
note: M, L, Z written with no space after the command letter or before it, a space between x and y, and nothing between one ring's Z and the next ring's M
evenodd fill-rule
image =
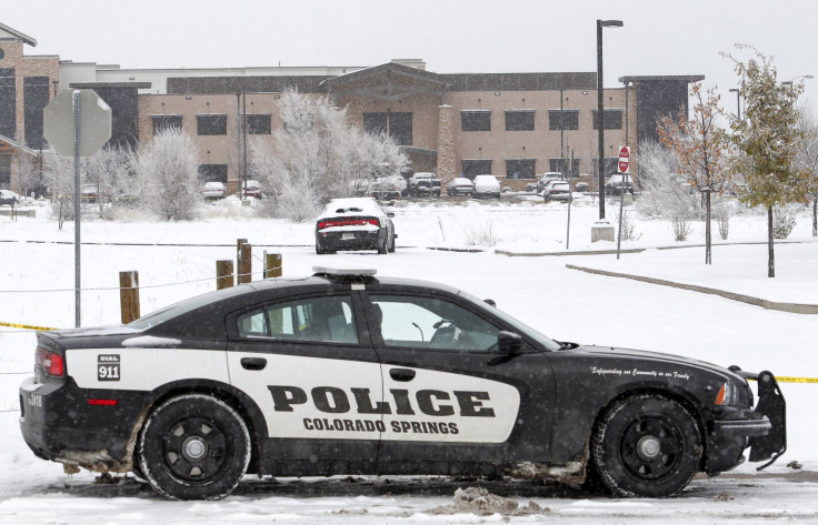
M89 157L84 165L83 182L97 189L97 206L102 219L107 205L116 203L128 192L131 181L130 150L112 147L102 148Z

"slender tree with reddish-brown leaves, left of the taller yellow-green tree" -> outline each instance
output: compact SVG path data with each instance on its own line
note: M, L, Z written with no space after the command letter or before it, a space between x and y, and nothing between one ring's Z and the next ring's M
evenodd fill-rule
M710 230L711 193L720 193L727 180L724 153L724 132L717 121L724 112L715 88L702 97L701 84L690 89L694 100L692 117L679 109L677 120L665 117L657 125L659 140L676 153L679 173L696 190L705 194L705 264L712 263L712 236Z

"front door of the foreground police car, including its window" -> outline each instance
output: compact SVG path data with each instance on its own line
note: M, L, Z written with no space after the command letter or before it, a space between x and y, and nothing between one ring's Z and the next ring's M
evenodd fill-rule
M380 472L411 470L406 465L418 461L437 463L426 472L441 474L460 468L451 466L458 462L543 461L553 417L547 359L525 350L501 354L499 320L441 297L368 292L391 408Z

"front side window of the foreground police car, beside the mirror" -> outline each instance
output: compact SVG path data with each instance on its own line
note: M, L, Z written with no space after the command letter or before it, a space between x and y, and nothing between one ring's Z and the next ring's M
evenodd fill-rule
M497 344L500 329L439 299L370 295L387 346L481 352Z

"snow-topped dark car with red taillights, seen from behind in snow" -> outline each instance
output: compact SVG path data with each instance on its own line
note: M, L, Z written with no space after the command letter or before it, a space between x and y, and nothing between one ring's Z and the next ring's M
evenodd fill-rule
M316 221L316 253L338 250L395 251L393 213L372 198L332 199Z

